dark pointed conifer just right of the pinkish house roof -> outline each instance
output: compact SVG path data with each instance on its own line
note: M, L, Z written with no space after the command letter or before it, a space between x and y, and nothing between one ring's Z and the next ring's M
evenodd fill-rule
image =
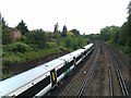
M17 28L22 33L22 35L25 35L28 33L28 28L23 20L19 23L19 25L15 28Z

